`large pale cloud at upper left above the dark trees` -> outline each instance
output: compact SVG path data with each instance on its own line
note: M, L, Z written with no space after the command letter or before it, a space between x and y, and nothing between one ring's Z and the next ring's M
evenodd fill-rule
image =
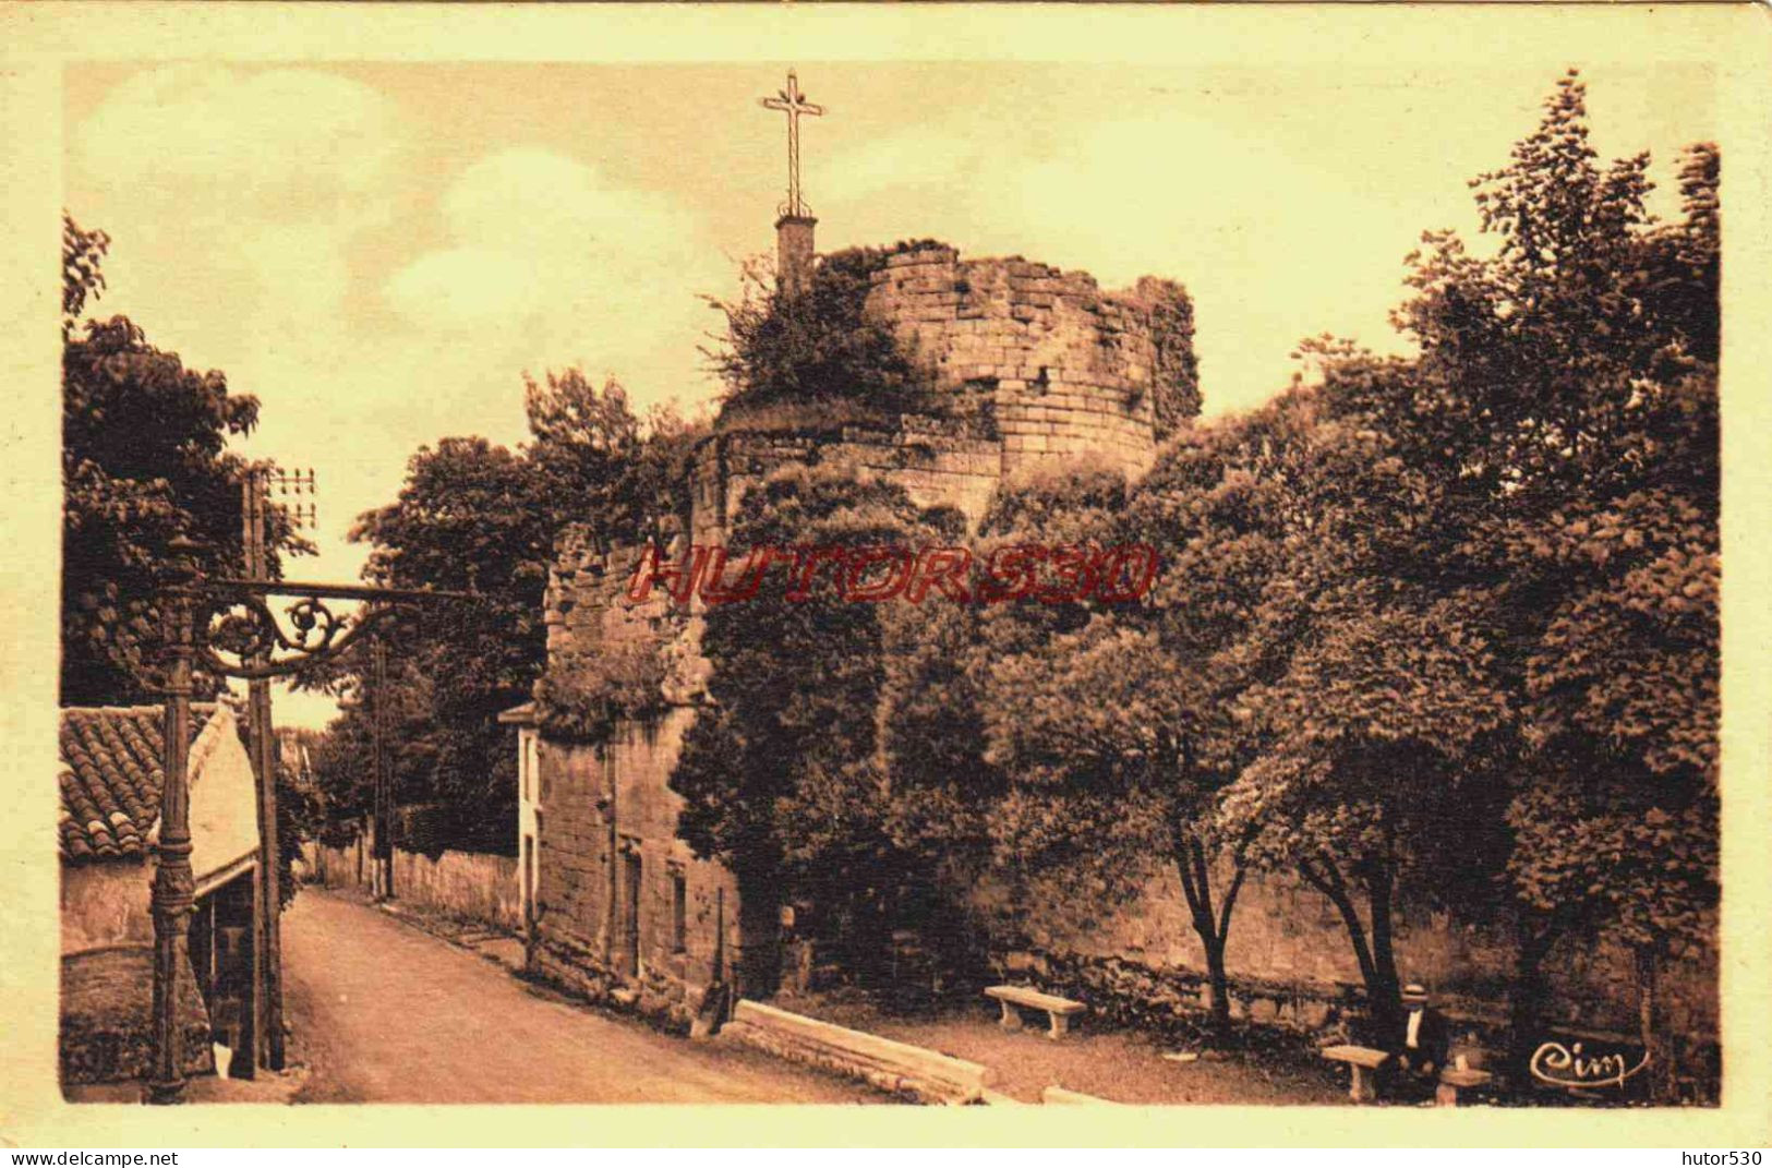
M408 136L381 94L330 73L131 74L71 140L69 207L113 239L96 310L230 374L308 339L337 353L351 264L386 234Z

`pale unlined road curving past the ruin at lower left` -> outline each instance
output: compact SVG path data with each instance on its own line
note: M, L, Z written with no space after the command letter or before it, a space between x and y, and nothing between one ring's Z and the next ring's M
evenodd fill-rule
M530 991L385 913L305 888L284 915L298 1102L877 1102L757 1051Z

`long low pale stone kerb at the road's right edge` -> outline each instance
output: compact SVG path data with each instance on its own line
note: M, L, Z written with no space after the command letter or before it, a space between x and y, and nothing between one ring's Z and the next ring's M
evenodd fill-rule
M923 1102L980 1102L991 1079L989 1067L964 1058L750 1000L739 1001L719 1035Z

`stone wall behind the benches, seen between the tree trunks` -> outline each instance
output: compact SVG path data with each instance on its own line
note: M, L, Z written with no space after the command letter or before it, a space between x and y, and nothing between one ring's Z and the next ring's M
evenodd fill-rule
M1084 1001L1088 1017L1109 1026L1194 1033L1210 994L1205 954L1187 923L1177 877L1159 874L1143 897L1123 904L1086 888L1065 895L1063 888L1061 879L1040 884L1035 897L1042 913L1030 922L1033 936L1021 945L996 943L992 975ZM1001 890L976 892L975 911L1001 920ZM1226 948L1233 1023L1304 1044L1352 1037L1364 984L1345 929L1322 900L1285 877L1247 877ZM1506 938L1405 902L1398 906L1395 939L1402 975L1425 982L1451 1023L1455 1053L1474 1067L1497 1069L1508 1046L1513 950ZM1627 954L1558 946L1545 975L1543 1040L1639 1049ZM1694 1097L1714 1094L1721 1074L1714 955L1666 962L1660 1008L1682 1079Z

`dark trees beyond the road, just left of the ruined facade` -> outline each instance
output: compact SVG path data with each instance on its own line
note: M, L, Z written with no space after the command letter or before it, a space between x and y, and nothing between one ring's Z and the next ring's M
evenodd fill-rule
M526 379L533 441L519 450L445 438L408 463L399 498L360 518L365 578L471 592L425 608L388 650L386 748L399 805L438 805L462 845L514 844L516 750L498 714L535 693L546 668L542 594L560 526L633 542L663 509L691 438L670 413L641 420L615 383L581 370ZM367 652L324 684L358 700L317 751L333 815L369 810L372 693ZM494 824L494 829L487 829Z

